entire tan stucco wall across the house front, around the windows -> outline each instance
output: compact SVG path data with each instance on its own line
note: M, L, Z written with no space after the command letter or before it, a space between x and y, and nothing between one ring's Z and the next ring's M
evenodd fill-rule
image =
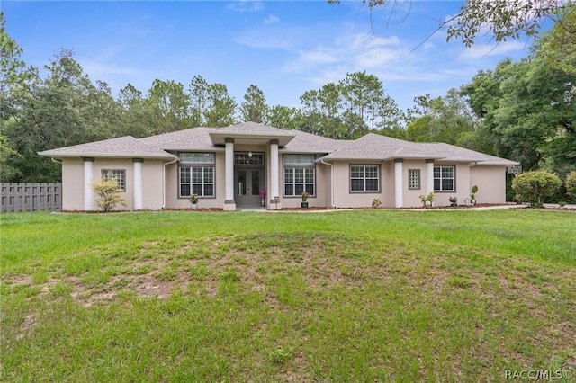
M266 189L270 191L269 146L241 146L235 151L253 151L266 153ZM284 197L284 164L283 153L278 155L278 191L283 208L297 208L301 205L301 198ZM225 154L223 151L215 153L215 198L202 198L200 207L221 209L224 206L226 194L225 181ZM166 198L166 209L188 209L190 202L187 198L178 198L178 164L166 165L163 160L145 159L142 164L142 209L162 209ZM350 188L350 164L353 165L379 165L381 177L380 192L352 193ZM459 204L464 204L470 198L473 185L478 185L476 195L478 203L504 203L506 201L506 168L496 165L473 165L455 163L436 163L435 165L455 165L455 191L436 192L435 205L447 206L448 197L456 196ZM122 196L127 206L117 206L118 210L130 210L134 207L134 163L131 158L109 159L95 158L93 163L94 180L99 180L102 169L123 169L126 172L126 191ZM410 169L420 171L420 189L408 189L408 172ZM166 183L163 183L163 174L166 170ZM394 188L394 162L374 161L335 161L333 163L334 180L332 180L332 167L318 163L316 165L316 196L309 198L310 207L331 206L332 192L334 206L337 208L367 208L374 198L383 202L383 207L393 207L395 203ZM419 207L419 196L426 194L427 170L425 160L405 160L402 164L402 190L403 206ZM84 161L81 158L66 158L62 161L62 209L84 209ZM166 194L163 187L166 185ZM332 191L333 186L333 191ZM268 195L266 203L273 196ZM98 209L94 205L94 209Z

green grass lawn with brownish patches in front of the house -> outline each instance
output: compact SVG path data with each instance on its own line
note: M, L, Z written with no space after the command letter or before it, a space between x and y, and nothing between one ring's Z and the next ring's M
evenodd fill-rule
M0 219L2 381L501 381L576 365L570 212Z

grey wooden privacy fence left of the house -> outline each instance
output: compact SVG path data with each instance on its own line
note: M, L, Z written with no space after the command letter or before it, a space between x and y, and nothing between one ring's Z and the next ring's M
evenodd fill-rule
M3 213L62 209L62 183L1 183Z

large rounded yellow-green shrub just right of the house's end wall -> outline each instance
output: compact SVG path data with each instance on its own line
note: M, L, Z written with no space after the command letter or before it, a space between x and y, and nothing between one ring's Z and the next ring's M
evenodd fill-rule
M545 170L519 174L512 182L518 200L527 201L532 206L542 206L545 199L554 195L561 186L560 178Z

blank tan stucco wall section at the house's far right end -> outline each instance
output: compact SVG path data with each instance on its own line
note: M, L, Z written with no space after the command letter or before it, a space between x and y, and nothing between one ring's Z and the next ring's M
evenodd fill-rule
M470 188L478 186L477 203L506 202L506 167L476 165L470 168Z

